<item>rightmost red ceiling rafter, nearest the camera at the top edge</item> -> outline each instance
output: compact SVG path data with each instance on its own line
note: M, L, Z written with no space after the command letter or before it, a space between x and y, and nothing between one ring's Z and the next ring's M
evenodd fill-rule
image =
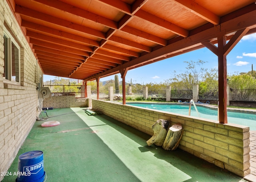
M206 8L200 6L200 4L197 4L194 0L172 0L172 1L214 25L220 24L219 16L207 10Z

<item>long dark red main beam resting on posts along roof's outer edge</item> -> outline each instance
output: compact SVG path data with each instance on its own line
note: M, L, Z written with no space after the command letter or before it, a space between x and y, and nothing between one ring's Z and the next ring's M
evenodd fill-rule
M165 47L161 47L150 53L144 54L136 59L133 59L132 61L124 63L123 65L115 67L111 70L107 70L106 72L103 72L102 74L100 74L100 76L111 75L112 73L115 73L118 70L123 68L136 67L138 65L142 65L150 61L154 61L161 58L164 59L165 57L168 57L172 53L178 53L183 50L191 49L193 47L198 47L202 45L201 43L204 41L213 40L213 39L215 40L216 37L218 37L220 28L224 30L226 34L232 33L234 31L238 31L240 29L244 29L246 27L254 28L253 26L256 25L256 5L253 5L253 6L255 8L250 12L242 14L236 18L233 18L232 20L228 20L224 23L221 23L221 25L217 25L214 27L210 27L204 31L200 31L199 33L191 35L187 39L179 39L178 41L175 41L169 45L166 45ZM92 80L92 79L94 79L93 76L90 78L87 78L86 80Z

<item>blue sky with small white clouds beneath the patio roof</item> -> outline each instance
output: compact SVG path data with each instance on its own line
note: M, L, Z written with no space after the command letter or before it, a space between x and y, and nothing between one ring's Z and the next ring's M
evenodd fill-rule
M175 57L171 57L150 65L142 66L132 70L128 70L126 74L126 82L132 83L160 83L168 80L174 74L184 73L187 64L184 61L202 60L206 63L203 68L218 68L218 57L207 48L198 49L189 53L184 53ZM256 70L256 33L244 36L237 45L227 55L227 72L228 74L248 72ZM118 74L119 81L122 80ZM54 80L56 76L44 75L44 82ZM114 75L100 78L100 81L114 80Z

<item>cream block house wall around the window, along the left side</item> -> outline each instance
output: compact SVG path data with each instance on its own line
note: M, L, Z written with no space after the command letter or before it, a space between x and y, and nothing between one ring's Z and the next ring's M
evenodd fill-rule
M3 79L4 27L20 46L20 85ZM41 76L41 77L40 77ZM40 69L6 0L0 1L0 172L6 172L38 116ZM17 166L18 170L18 166ZM0 176L0 181L4 176Z

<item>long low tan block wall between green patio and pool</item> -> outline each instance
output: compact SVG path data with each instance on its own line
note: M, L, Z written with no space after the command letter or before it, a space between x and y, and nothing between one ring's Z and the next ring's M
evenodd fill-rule
M149 135L154 134L152 125L157 119L171 121L170 125L181 123L184 132L179 145L180 149L239 176L244 177L250 174L249 127L231 123L220 124L210 119L174 115L94 99L92 109Z

